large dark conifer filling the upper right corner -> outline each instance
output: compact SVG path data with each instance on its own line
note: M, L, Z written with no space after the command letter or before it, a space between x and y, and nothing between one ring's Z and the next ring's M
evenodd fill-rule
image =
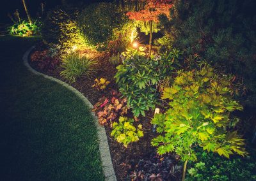
M172 20L161 17L161 50L179 48L198 54L219 70L236 75L244 105L256 106L256 16L253 0L178 0ZM244 83L244 85L243 85Z

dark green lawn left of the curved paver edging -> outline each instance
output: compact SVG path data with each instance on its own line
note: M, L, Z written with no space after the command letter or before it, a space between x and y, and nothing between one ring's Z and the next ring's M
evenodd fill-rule
M104 180L89 109L22 64L36 40L0 38L0 180Z

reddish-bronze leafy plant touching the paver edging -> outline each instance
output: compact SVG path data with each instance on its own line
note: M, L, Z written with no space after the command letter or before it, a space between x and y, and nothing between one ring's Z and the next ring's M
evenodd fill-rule
M99 124L109 125L112 127L112 122L118 118L119 115L127 114L127 100L121 99L119 94L116 91L113 91L111 98L100 98L93 106L93 112L97 114L99 119Z

